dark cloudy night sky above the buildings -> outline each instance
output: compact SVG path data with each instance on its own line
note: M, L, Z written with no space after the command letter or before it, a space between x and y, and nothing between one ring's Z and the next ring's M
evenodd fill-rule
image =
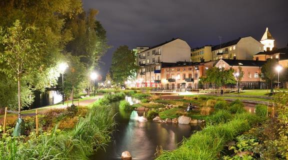
M260 40L268 26L276 47L288 42L288 0L83 0L113 47L101 58L101 74L119 45L152 46L179 37L191 48L251 35Z

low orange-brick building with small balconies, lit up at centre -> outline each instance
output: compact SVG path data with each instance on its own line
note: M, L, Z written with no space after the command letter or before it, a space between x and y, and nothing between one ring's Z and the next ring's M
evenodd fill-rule
M178 61L161 68L161 84L164 89L196 89L199 77L208 69L202 62Z

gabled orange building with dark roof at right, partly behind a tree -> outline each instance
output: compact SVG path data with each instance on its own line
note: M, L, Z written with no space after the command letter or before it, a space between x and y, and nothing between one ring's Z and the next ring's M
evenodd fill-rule
M235 72L238 67L242 68L244 75L239 86L244 89L264 89L266 83L260 78L261 66L264 65L264 60L239 60L239 59L220 59L216 62L215 67L229 69L233 68Z

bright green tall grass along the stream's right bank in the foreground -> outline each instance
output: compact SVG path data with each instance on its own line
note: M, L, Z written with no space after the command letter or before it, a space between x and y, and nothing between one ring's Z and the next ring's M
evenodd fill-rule
M248 130L251 127L251 123L248 121L255 116L252 114L246 116L246 113L243 113L243 115L239 114L226 123L209 125L183 140L182 145L177 149L158 151L159 154L156 159L219 159L225 143Z

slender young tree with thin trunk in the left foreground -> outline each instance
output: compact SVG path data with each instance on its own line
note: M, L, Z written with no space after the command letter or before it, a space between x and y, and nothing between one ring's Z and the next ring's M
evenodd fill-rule
M5 66L0 70L17 81L18 86L18 116L21 111L21 80L23 76L31 74L40 69L43 56L38 52L39 43L29 39L30 30L34 27L23 28L19 20L6 31L1 30L0 43L4 51L0 57L1 63Z

